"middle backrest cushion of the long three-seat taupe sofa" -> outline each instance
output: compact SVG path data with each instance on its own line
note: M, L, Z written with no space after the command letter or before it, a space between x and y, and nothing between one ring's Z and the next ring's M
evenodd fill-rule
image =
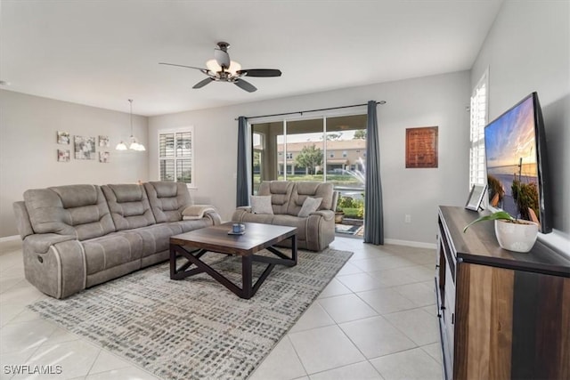
M126 183L101 187L117 230L130 230L154 224L149 198L142 185Z

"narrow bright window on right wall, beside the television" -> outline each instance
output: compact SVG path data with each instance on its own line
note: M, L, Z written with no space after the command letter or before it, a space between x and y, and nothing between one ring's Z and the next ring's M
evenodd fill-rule
M488 71L479 80L471 94L469 189L474 184L485 184L485 125L487 125Z

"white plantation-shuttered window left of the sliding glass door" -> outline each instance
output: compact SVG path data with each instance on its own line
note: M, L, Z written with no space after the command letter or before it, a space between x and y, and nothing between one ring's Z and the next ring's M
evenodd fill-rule
M193 130L159 131L160 181L193 184Z

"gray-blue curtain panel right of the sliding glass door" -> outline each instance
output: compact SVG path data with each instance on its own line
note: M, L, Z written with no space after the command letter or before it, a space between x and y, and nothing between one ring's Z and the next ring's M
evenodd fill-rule
M364 243L384 244L380 147L376 101L368 102L366 125L366 191L364 193Z

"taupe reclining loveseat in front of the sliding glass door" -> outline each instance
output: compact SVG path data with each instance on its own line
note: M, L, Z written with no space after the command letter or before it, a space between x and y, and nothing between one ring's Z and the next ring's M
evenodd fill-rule
M257 196L271 196L273 214L254 214L250 206L238 207L233 222L258 222L297 227L297 247L321 251L335 239L335 213L338 193L332 183L262 182ZM318 209L298 216L306 198L322 198ZM283 242L289 244L289 240Z

